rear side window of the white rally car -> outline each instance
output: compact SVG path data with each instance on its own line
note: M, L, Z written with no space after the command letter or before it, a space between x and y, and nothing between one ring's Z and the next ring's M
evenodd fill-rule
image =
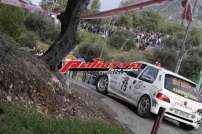
M148 83L153 83L156 80L159 70L154 67L148 67L144 73L140 76L140 80Z

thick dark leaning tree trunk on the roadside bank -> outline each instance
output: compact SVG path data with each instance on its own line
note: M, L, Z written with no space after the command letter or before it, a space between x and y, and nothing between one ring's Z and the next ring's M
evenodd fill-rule
M89 0L68 0L66 10L58 16L61 22L59 38L42 56L42 59L50 65L51 70L56 70L57 65L76 46L80 14L86 9L88 3Z

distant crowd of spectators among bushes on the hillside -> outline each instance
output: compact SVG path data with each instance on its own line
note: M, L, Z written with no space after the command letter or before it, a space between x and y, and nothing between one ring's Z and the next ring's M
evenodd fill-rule
M127 30L132 33L134 38L136 39L136 45L139 49L146 48L159 48L162 45L162 38L168 37L163 33L159 32L144 32L136 29L126 29L124 27L116 27L111 26L111 28L106 28L98 25L92 25L89 23L81 23L81 29L86 30L88 32L92 32L95 34L100 34L101 37L106 38L110 37L114 32L118 30Z

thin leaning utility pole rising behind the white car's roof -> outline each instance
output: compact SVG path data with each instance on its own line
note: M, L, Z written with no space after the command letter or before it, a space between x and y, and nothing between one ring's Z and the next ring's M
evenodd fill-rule
M194 7L193 7L193 10L192 10L193 15L194 15L194 12L195 12L195 9L196 9L197 2L198 2L198 0L195 0L195 2L194 2ZM179 59L177 61L177 66L175 68L175 73L179 73L182 61L183 61L184 57L186 57L187 52L188 52L186 50L186 42L187 42L187 37L188 37L188 34L189 34L189 29L190 29L191 23L192 23L192 21L189 21L189 23L187 25L185 37L184 37L184 40L183 40L183 43L182 43L182 51L181 51L182 54L180 54L180 57L179 57Z

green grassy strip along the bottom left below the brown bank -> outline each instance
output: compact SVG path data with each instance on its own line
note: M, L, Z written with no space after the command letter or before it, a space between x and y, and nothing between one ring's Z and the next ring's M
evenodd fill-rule
M0 134L123 134L100 121L56 119L9 104L0 104L0 111Z

